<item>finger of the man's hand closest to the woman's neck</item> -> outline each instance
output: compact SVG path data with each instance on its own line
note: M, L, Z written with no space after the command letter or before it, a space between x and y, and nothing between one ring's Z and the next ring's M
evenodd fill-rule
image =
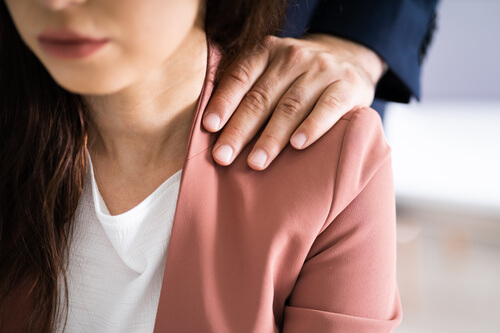
M216 132L226 124L268 63L269 52L255 50L239 55L229 65L205 109L203 126L206 130Z

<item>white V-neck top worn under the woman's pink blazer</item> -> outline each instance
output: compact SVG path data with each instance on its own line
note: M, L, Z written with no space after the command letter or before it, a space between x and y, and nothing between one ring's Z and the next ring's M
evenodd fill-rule
M65 331L152 332L181 171L111 216L89 169L69 254Z

